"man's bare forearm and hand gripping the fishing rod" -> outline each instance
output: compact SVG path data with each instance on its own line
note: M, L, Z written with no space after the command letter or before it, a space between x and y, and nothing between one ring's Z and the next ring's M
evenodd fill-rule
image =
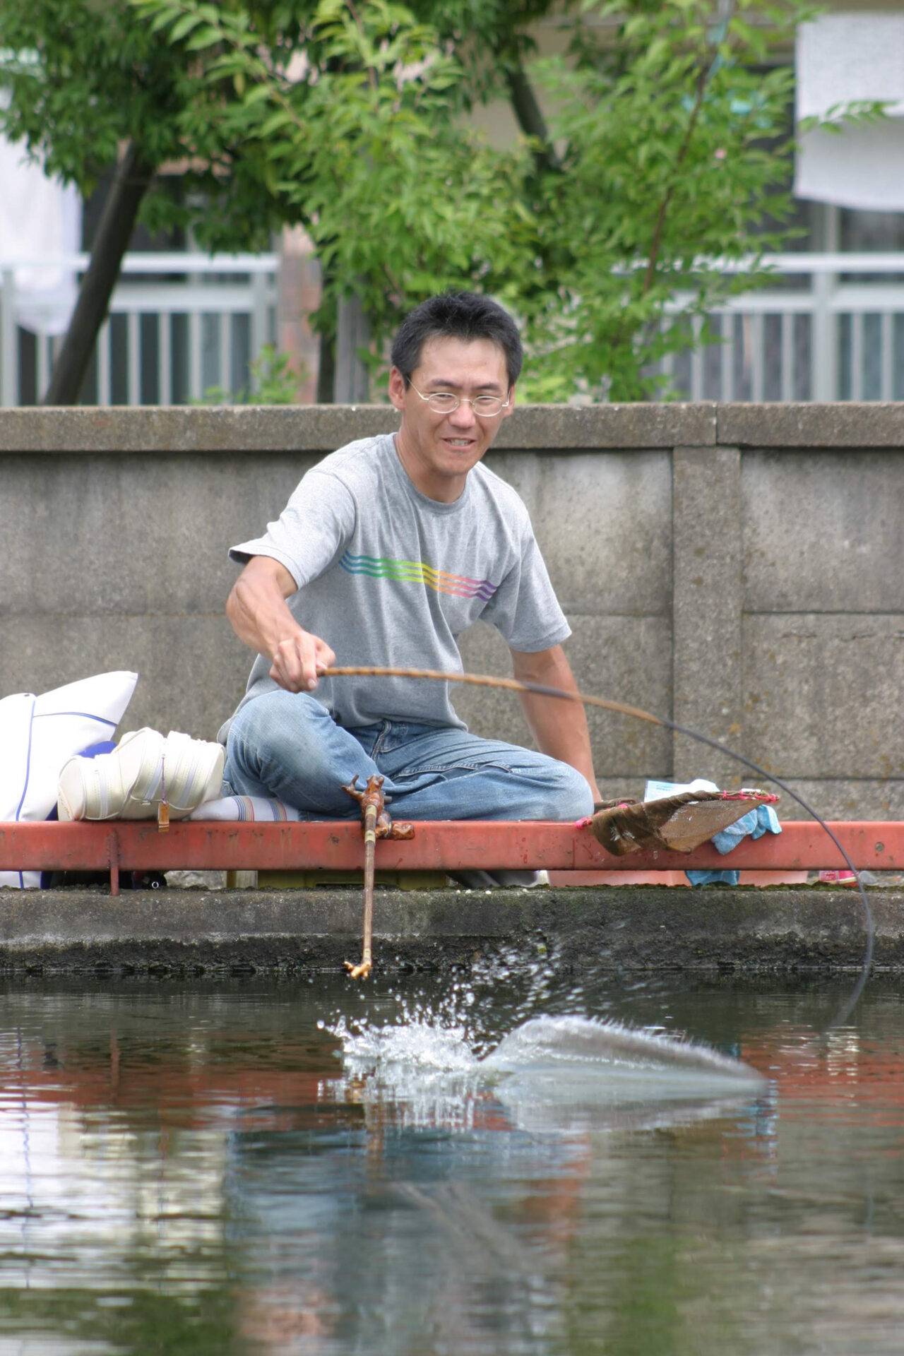
M226 617L240 640L272 660L270 677L287 692L312 692L319 670L336 656L320 636L304 631L286 598L297 593L285 565L270 556L252 556L226 599Z

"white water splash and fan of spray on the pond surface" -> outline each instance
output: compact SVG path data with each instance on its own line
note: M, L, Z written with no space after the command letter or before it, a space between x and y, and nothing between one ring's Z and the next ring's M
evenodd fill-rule
M354 1031L340 1018L332 1032L358 1096L394 1105L404 1124L469 1127L492 1100L531 1132L637 1128L718 1115L767 1089L709 1045L575 1014L522 1021L488 1054L465 1025L426 1013Z

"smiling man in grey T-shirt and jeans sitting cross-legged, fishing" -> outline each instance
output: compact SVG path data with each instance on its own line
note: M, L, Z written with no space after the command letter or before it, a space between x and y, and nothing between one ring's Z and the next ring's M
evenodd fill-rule
M576 819L598 796L584 709L525 696L541 753L478 739L449 685L320 678L332 664L461 671L457 637L482 617L516 678L575 689L571 633L515 491L481 465L512 410L518 330L485 297L423 302L392 348L401 427L325 457L279 522L233 546L226 603L258 659L220 732L225 778L304 818L350 818L343 786L385 776L405 819Z

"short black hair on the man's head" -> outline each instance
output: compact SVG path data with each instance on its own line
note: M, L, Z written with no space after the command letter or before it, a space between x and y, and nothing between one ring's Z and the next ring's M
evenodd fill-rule
M398 327L392 346L392 365L398 367L405 385L417 369L428 339L489 339L506 354L508 385L518 381L525 354L518 327L507 311L476 292L443 292L428 297L409 312Z

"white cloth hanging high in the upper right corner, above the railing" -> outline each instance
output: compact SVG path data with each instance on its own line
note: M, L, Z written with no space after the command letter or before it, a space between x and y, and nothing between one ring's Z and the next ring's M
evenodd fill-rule
M836 104L889 100L888 118L801 137L794 195L904 212L904 14L824 14L797 30L797 119Z

